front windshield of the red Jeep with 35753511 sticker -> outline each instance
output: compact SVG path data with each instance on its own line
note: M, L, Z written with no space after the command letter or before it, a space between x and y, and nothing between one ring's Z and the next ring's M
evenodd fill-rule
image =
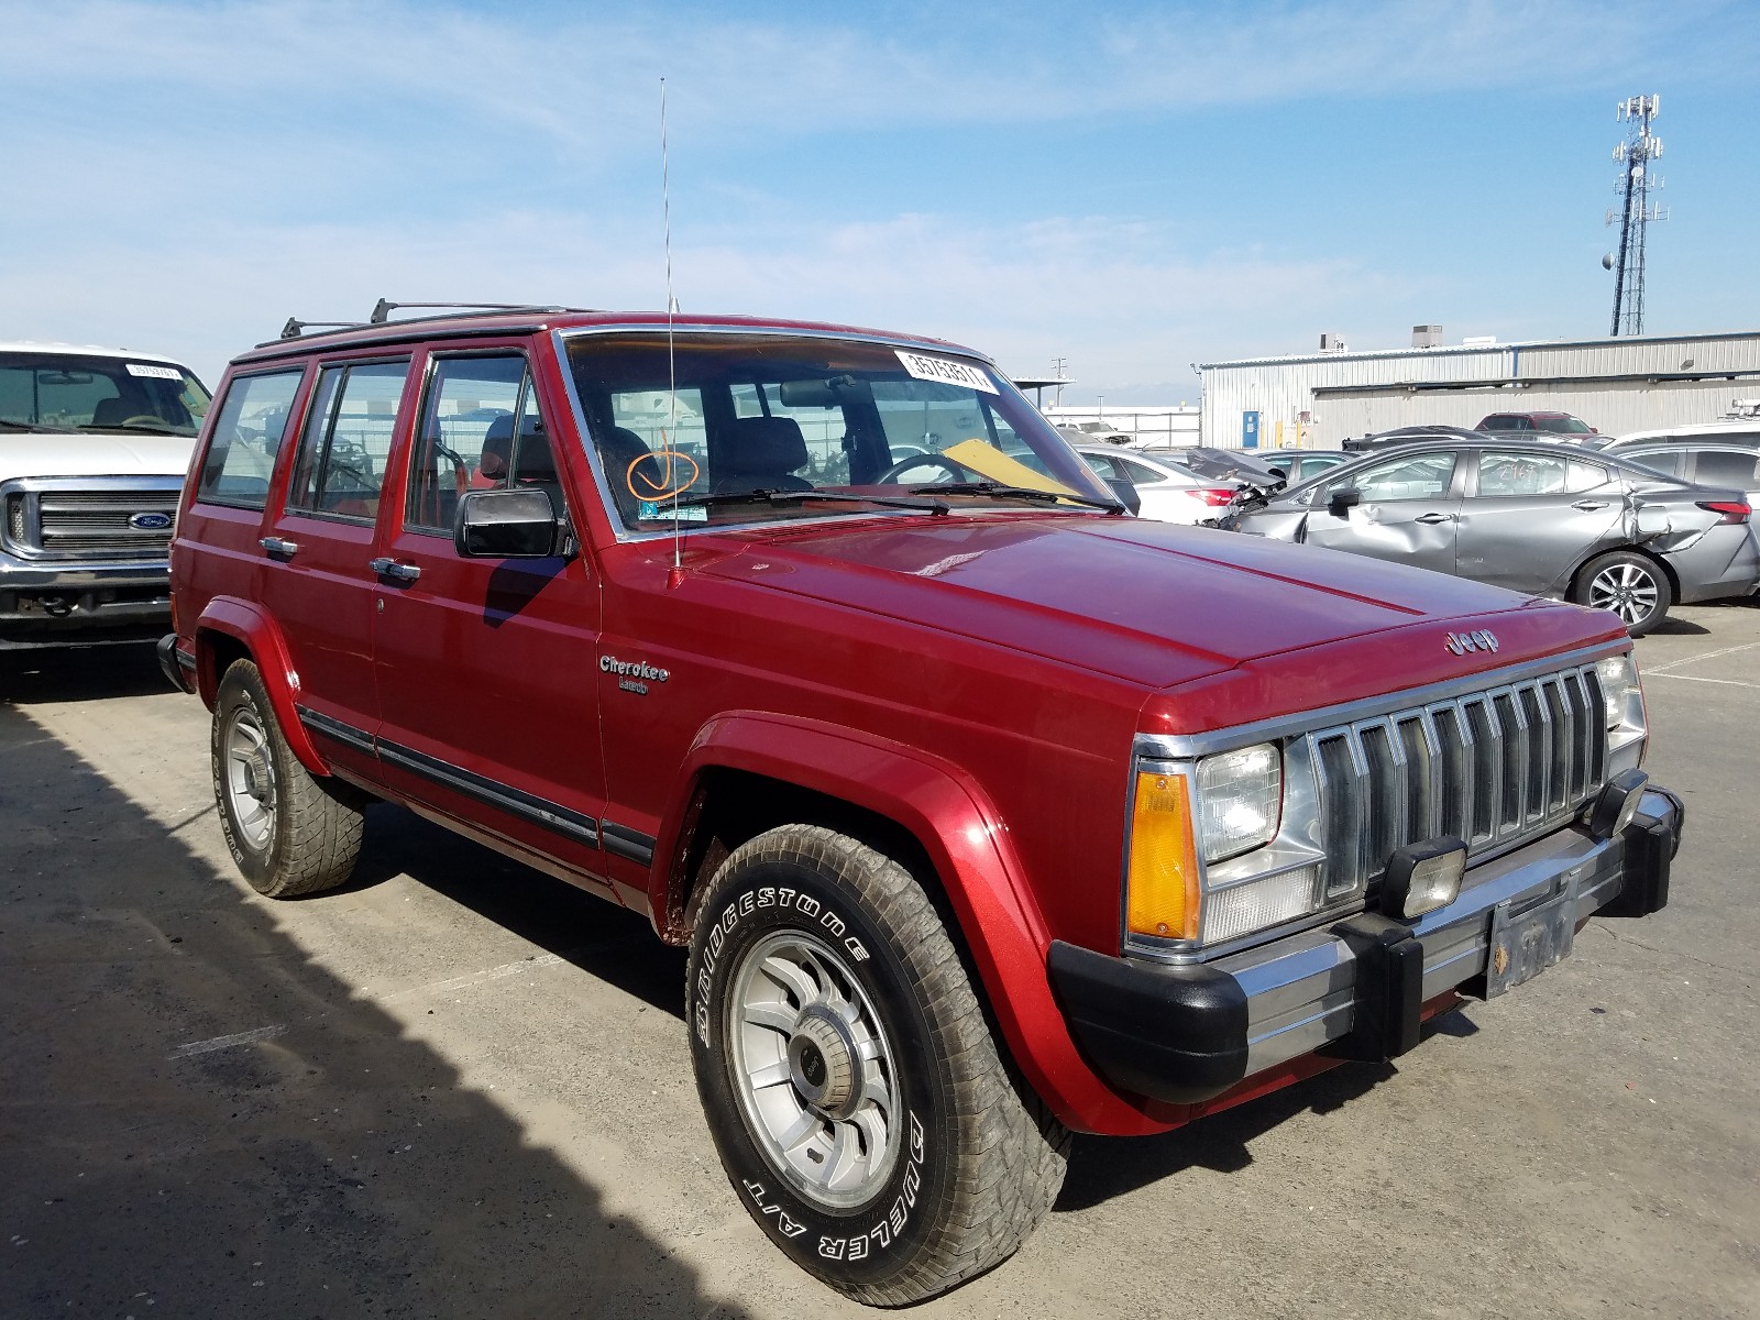
M891 507L878 502L1116 503L1014 385L952 352L715 333L669 352L665 333L579 334L568 366L635 532Z

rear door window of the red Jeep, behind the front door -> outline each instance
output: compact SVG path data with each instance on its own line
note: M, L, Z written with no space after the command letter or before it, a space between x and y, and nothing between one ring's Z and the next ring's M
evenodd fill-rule
M324 368L299 436L289 509L363 523L378 517L398 400L408 373L408 357Z

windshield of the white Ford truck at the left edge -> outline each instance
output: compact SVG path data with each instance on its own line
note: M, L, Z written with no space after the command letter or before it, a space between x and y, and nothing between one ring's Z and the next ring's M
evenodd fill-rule
M208 391L171 363L77 352L0 352L0 431L195 435Z

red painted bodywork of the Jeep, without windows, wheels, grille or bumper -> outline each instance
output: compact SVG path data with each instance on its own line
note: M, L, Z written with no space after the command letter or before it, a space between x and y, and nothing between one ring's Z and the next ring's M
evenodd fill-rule
M1075 1051L1045 956L1054 938L1118 952L1139 732L1250 723L1623 641L1610 616L1477 583L1063 510L864 512L697 530L674 572L669 539L618 539L551 338L664 324L655 313L532 313L516 333L505 315L454 317L431 347L422 345L431 331L410 322L245 354L232 373L282 359L412 354L387 472L398 491L431 354L521 348L581 553L542 567L459 560L444 537L403 530L396 498L375 524L276 514L283 454L266 516L185 495L172 556L183 644L215 628L250 646L276 718L313 769L345 766L475 838L528 861L542 854L549 869L590 887L605 882L607 894L648 906L656 926L679 884L695 787L716 767L891 818L935 864L1014 1060L1081 1130L1165 1130L1327 1067L1299 1060L1195 1109L1123 1095ZM873 334L737 317L690 324ZM384 347L400 336L407 347ZM299 542L303 572L264 556L264 535ZM378 581L366 561L380 554L421 567L421 577ZM1443 646L1448 632L1485 627L1501 642L1496 655ZM665 678L625 681L602 660ZM211 704L208 671L201 690ZM382 744L438 757L607 831L651 836L655 861L568 843L327 739L313 748L296 695ZM341 760L348 755L357 760Z

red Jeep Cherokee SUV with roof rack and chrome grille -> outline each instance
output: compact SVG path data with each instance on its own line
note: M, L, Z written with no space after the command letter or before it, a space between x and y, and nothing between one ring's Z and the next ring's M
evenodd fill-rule
M1153 1133L1663 906L1612 614L1137 521L989 359L526 308L238 357L172 546L268 896L370 797L688 943L734 1193L908 1302Z

